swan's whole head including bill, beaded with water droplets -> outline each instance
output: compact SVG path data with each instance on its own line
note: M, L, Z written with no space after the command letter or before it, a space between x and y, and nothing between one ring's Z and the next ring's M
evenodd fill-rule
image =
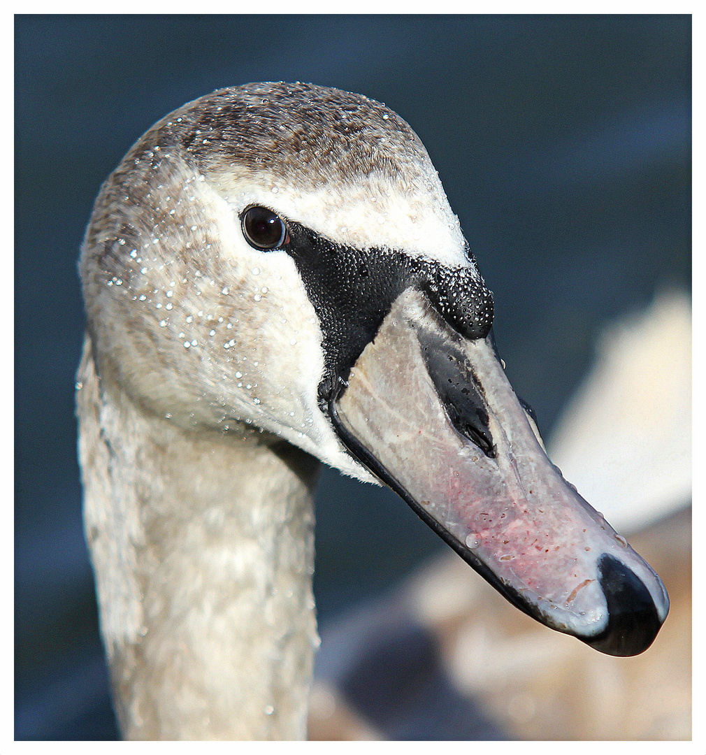
M386 106L284 83L183 106L106 181L80 270L101 379L144 411L381 480L544 624L613 655L654 639L661 581L544 455L458 218Z

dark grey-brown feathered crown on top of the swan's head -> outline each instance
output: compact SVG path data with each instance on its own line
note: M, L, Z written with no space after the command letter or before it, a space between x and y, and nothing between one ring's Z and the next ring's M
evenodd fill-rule
M220 89L172 113L156 136L181 146L205 172L236 163L288 182L306 175L340 184L371 174L416 183L433 171L421 140L395 112L312 84Z

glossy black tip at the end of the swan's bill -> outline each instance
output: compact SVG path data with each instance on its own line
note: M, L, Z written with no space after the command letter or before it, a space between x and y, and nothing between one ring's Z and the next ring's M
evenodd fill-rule
M643 581L615 556L603 553L598 569L608 626L596 637L580 639L608 655L638 655L652 645L662 624L655 601Z

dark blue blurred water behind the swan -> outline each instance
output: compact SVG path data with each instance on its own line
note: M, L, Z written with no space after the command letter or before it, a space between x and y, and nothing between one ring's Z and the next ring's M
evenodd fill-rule
M430 152L548 435L600 326L690 288L690 45L686 16L16 17L16 738L117 736L81 525L76 258L137 137L245 82L387 103ZM445 547L331 470L316 516L322 627Z

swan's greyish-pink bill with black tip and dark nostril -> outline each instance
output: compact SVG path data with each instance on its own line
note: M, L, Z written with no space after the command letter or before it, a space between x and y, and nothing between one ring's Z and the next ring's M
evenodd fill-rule
M517 608L609 655L655 639L649 565L561 476L505 377L408 288L329 403L344 445Z

